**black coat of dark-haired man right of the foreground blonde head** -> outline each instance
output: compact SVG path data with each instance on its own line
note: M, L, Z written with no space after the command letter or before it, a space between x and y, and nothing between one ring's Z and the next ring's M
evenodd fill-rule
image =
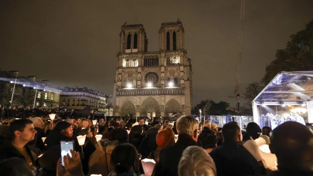
M214 148L213 158L217 175L260 175L260 169L254 157L243 148L243 141L223 142Z

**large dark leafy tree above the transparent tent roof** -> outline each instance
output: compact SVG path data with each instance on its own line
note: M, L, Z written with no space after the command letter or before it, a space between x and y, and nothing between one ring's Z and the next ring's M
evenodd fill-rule
M313 20L290 39L286 48L277 50L276 59L266 66L262 83L268 84L280 71L313 69Z

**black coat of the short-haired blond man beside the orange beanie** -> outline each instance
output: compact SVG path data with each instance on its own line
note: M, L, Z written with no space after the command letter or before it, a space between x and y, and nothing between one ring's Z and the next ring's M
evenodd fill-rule
M183 151L192 145L198 146L198 143L190 136L180 134L175 144L161 151L160 161L154 167L154 175L178 175L178 164Z

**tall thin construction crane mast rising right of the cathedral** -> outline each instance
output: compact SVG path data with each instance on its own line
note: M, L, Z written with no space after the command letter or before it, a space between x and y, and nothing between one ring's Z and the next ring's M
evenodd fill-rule
M240 75L241 75L241 61L242 61L242 43L243 43L243 21L244 21L244 11L245 11L245 0L241 0L240 8L240 29L239 29L239 52L238 60L236 63L236 78L235 78L235 92L234 97L237 100L237 111L240 111Z

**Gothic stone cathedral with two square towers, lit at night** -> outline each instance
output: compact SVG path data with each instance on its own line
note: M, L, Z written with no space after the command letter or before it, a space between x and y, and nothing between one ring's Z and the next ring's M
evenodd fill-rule
M192 70L184 27L162 23L159 51L148 52L142 24L124 24L120 32L113 93L113 116L169 117L190 115ZM180 113L180 114L178 114Z

